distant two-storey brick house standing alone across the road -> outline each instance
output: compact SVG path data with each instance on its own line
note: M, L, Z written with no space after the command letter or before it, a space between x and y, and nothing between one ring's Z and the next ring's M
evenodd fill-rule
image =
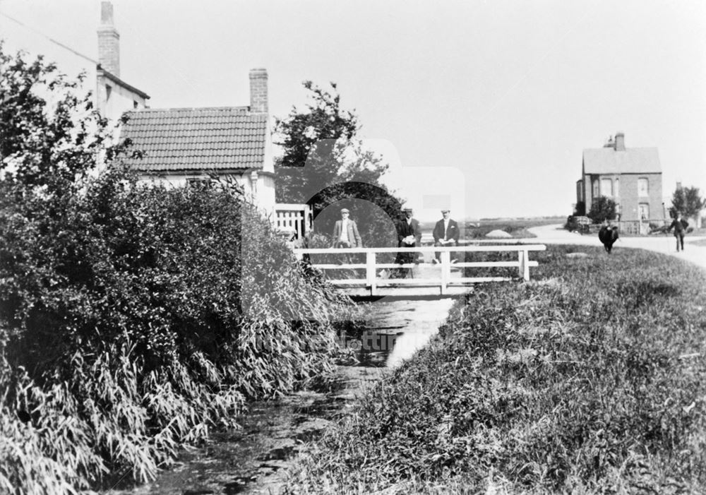
M603 148L583 150L576 201L583 201L588 212L599 196L617 203L623 222L664 220L657 148L626 148L625 135L618 132Z

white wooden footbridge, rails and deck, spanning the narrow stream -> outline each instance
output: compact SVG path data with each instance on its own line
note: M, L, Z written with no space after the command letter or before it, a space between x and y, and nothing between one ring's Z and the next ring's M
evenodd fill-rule
M294 249L312 268L320 270L328 282L351 296L438 296L463 294L479 282L530 280L530 252L544 251L544 244L484 245L410 248ZM441 262L434 263L434 253ZM510 261L466 261L472 253L516 253ZM414 263L393 263L398 253L412 254ZM511 255L510 255L511 256ZM385 261L387 258L388 261ZM456 261L458 258L458 261ZM468 276L474 268L515 268L513 276ZM337 276L338 275L338 276ZM344 275L347 275L345 277Z

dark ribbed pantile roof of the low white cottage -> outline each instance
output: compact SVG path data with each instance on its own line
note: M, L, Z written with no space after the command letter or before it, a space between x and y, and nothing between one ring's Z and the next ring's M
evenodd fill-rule
M261 169L267 114L248 107L144 109L128 112L121 139L130 138L140 172Z

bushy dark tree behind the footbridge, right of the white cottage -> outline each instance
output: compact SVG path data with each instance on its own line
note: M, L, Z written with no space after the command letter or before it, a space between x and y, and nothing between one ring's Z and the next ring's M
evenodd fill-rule
M388 165L357 138L358 117L342 109L335 83L331 91L311 81L304 88L311 92L304 111L293 107L286 119L275 120L275 143L284 149L275 164L277 201L311 205L322 234L330 234L338 206L346 206L364 219L365 245L389 245L401 201L381 182ZM330 205L336 211L318 217Z

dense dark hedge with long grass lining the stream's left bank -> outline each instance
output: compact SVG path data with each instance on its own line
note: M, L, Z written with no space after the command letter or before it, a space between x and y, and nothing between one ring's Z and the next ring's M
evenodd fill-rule
M248 398L332 366L349 303L237 188L111 169L0 197L0 491L147 481Z

